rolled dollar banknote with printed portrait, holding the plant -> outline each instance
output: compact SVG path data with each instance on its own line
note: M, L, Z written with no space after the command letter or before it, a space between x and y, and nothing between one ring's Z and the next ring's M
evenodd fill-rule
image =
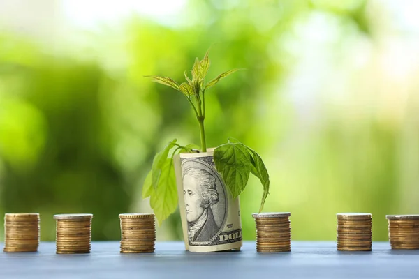
M216 171L213 149L175 158L179 211L186 250L214 252L242 246L240 200Z

